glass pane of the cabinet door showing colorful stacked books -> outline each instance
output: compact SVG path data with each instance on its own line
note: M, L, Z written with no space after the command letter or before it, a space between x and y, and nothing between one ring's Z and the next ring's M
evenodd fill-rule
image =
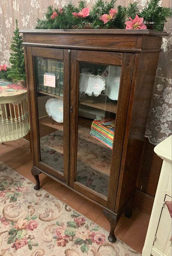
M121 67L79 62L76 181L107 197Z

